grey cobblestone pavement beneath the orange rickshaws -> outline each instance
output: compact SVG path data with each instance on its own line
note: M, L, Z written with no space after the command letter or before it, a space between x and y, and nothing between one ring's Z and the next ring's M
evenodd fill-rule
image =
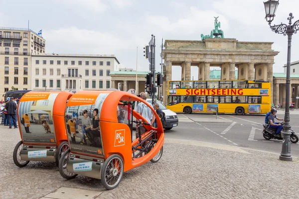
M128 171L119 187L106 191L100 180L63 179L54 163L30 162L18 168L12 152L17 129L0 126L0 198L39 199L60 188L103 191L100 199L297 199L299 160L277 154L249 153L183 143L165 143L162 158Z

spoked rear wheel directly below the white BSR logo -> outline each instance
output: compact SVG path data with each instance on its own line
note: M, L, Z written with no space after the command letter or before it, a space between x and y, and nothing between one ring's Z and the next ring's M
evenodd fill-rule
M101 169L101 181L107 190L116 188L124 174L124 161L121 156L114 154L107 158Z

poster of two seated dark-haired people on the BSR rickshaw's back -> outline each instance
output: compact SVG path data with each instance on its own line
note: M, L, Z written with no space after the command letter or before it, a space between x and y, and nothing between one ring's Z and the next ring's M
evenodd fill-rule
M66 108L65 122L72 151L93 155L104 154L101 129L99 128L99 116L103 102L108 95L100 94L96 100L75 98L75 96L69 100L70 103L82 104L67 106ZM93 101L92 104L90 104L89 99ZM95 116L97 116L97 119L93 121Z

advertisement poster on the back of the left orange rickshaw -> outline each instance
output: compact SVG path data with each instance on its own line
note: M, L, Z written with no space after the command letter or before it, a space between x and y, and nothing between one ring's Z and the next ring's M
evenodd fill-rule
M20 131L25 142L55 143L53 105L58 94L25 95L18 104ZM33 100L39 99L39 100Z

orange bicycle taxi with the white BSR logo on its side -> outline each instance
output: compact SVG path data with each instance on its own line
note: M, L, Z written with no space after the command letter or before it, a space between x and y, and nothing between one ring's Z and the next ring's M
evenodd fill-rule
M73 179L79 174L101 179L103 186L111 190L119 185L124 172L161 158L164 143L161 115L149 106L156 118L154 128L133 110L135 101L149 106L147 101L123 91L81 91L69 99L65 125L70 149L59 160L62 177ZM88 120L90 126L86 126ZM135 123L143 125L146 132L133 140ZM80 134L84 136L78 139L79 131L84 131Z

